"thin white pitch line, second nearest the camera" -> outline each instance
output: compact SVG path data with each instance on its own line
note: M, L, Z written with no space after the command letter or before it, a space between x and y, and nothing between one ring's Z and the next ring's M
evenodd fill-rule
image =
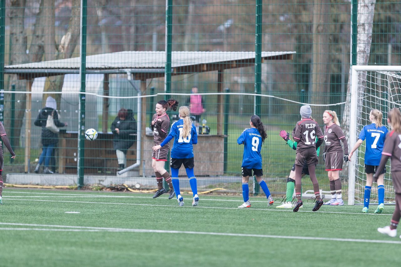
M4 200L20 200L20 201L43 201L43 202L64 202L64 203L87 203L87 204L110 204L110 205L132 205L132 206L151 206L151 207L177 207L178 209L182 207L173 206L173 205L155 205L155 204L138 204L138 203L112 203L112 202L92 202L92 201L65 201L65 200L44 200L44 199L7 199ZM277 212L292 212L292 209L289 210L278 210L278 209L239 209L239 208L229 208L229 207L203 207L197 206L196 208L192 206L184 206L184 208L191 208L191 209L235 209L235 210L243 210L245 211L277 211ZM336 212L336 211L301 211L301 213L330 213L330 214L356 214L356 215L374 215L377 214L373 213L352 213L352 212ZM381 214L379 216L393 216L392 214Z

